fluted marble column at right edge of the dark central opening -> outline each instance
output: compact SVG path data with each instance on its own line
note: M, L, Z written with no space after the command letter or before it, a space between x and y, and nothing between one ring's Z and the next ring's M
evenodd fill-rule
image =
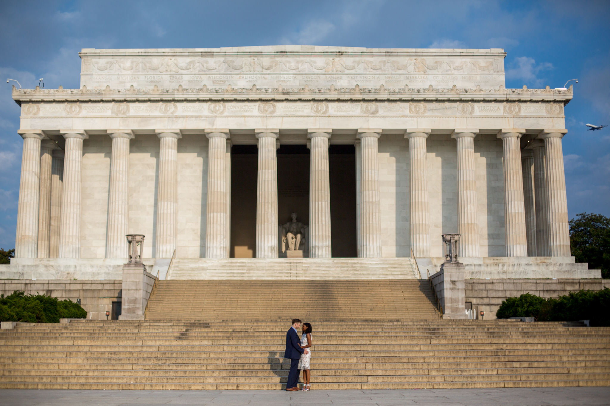
M378 139L381 128L361 128L360 256L381 257L381 196L379 194Z

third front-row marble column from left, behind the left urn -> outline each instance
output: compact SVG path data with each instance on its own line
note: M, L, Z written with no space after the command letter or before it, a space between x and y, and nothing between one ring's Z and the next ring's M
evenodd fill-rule
M125 236L129 225L129 140L131 130L107 130L112 138L106 257L127 258Z

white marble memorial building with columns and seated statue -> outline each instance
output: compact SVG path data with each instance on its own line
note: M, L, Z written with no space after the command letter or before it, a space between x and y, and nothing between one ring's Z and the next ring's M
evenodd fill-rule
M600 278L570 256L572 86L507 89L503 49L79 55L77 89L13 86L2 278L121 279L129 234L160 279L427 279L451 255L465 279Z

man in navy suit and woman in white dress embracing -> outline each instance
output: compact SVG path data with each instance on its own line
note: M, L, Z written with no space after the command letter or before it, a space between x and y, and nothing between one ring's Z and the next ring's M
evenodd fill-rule
M290 359L290 373L286 383L287 391L298 391L299 371L303 370L302 390L308 391L310 374L309 359L311 358L311 324L303 323L301 328L301 340L299 340L298 329L301 327L301 320L292 319L292 327L286 333L286 351L284 358Z

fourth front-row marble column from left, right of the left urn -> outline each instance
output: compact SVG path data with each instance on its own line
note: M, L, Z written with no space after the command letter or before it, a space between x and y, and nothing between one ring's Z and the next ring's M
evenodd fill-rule
M178 248L178 139L180 130L155 130L160 139L157 184L156 257L171 258Z

